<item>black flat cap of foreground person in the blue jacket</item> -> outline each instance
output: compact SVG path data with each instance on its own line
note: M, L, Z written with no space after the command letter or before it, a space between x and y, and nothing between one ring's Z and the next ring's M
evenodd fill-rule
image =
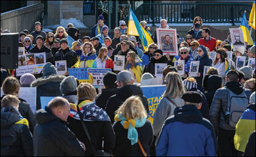
M182 99L185 102L190 102L190 103L202 103L203 101L202 95L199 94L199 92L197 91L184 92L184 94L182 95Z

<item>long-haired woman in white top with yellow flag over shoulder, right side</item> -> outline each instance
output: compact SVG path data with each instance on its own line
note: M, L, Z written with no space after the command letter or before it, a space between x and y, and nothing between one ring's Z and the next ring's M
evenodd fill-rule
M229 71L229 61L227 61L228 56L227 53L224 49L218 49L216 51L216 58L214 62L212 63L212 67L215 67L218 72L220 77L222 78L222 85L225 85L225 75L227 71Z

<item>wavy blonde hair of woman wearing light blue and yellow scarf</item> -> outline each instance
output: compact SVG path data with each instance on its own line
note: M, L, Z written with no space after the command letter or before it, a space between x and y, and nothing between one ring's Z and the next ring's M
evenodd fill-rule
M147 118L147 112L139 96L131 96L116 110L116 115L122 114L125 118Z

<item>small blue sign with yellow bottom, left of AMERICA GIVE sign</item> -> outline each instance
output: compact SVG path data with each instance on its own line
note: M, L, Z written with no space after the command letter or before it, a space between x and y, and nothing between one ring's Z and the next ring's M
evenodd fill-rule
M86 68L68 68L69 76L73 76L79 80L80 83L88 82L89 83L89 75Z

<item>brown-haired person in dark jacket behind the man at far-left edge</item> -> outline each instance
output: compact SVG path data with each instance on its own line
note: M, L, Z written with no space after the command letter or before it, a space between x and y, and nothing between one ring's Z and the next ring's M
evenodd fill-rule
M23 79L23 78L22 78ZM19 96L19 81L14 77L7 77L2 84L3 96L1 100L5 98L6 95ZM28 120L29 130L33 133L34 131L34 114L30 108L30 105L21 98L19 99L18 111L19 113Z

